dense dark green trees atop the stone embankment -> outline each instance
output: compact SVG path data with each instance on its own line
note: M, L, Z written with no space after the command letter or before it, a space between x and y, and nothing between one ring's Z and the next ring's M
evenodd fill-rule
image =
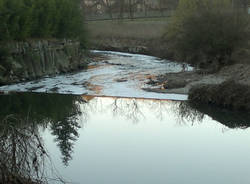
M0 41L29 38L84 40L80 0L0 0Z

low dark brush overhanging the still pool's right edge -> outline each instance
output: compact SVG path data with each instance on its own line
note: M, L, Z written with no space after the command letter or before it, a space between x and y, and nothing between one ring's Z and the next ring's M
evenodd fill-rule
M218 85L195 86L189 91L188 98L193 104L250 112L250 87L232 80Z

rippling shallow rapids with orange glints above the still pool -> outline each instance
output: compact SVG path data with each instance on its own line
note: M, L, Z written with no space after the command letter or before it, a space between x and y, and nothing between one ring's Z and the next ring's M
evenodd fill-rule
M187 99L187 95L159 94L141 89L146 87L147 77L167 72L179 72L182 70L182 64L139 54L110 51L92 52L106 55L108 59L91 63L90 66L95 66L92 69L2 86L0 91L88 94L172 100ZM187 70L192 70L192 67L188 67ZM120 79L123 82L117 82Z

